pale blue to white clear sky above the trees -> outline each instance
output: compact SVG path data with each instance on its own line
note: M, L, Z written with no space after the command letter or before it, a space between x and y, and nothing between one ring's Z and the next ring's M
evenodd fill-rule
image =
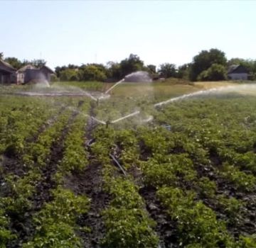
M0 52L48 66L191 62L218 48L256 59L256 1L1 1Z

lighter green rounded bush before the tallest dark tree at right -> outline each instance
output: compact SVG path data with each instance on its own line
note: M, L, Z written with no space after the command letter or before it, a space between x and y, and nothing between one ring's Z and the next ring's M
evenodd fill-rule
M227 79L227 70L222 64L212 64L198 75L198 81L219 81Z

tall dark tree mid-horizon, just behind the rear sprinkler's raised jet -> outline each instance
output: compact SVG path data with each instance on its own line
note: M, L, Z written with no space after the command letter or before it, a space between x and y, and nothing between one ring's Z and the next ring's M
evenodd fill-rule
M121 77L125 77L132 72L141 71L144 69L144 62L140 60L138 55L129 55L129 57L120 62Z

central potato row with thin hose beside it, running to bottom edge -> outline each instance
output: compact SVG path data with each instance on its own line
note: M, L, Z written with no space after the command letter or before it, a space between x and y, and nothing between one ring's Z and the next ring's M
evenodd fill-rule
M139 187L132 178L119 175L110 159L114 152L114 133L109 129L95 130L96 142L92 152L103 166L104 190L111 201L102 211L105 223L103 247L157 247L154 221L149 218L146 206L139 195Z

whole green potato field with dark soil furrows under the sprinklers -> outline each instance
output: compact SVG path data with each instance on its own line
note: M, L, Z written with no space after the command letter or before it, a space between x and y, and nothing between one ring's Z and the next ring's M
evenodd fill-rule
M256 247L255 96L7 93L0 247Z

